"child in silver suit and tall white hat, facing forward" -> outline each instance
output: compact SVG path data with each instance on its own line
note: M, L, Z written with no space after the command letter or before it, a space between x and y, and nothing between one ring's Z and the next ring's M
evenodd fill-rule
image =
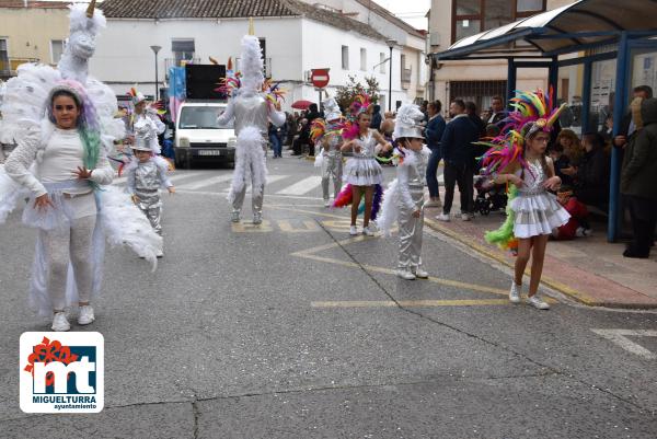
M422 269L422 240L424 231L424 187L426 169L431 151L423 145L424 119L419 107L402 105L394 127L397 149L393 153L397 177L383 194L382 213L377 221L384 235L390 235L396 220L400 228L400 254L396 275L405 280L426 279Z

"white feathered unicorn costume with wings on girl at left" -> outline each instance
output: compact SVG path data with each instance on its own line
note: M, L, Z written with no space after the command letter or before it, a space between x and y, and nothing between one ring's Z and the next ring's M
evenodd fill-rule
M71 35L58 69L36 63L22 65L18 69L18 77L7 82L3 92L0 107L3 114L0 141L19 145L14 151L20 149L22 157L20 160L13 161L14 164L21 161L25 166L30 166L30 163L33 162L28 170L21 167L24 178L32 182L33 186L34 184L41 186L35 172L36 164L44 160L44 150L55 131L55 126L48 119L46 105L51 90L60 85L62 80L79 82L85 99L83 102L89 103L84 108L89 108L90 114L94 115L94 119L100 126L103 157L112 150L114 139L120 139L125 134L123 122L114 118L117 111L116 96L107 85L88 78L88 60L93 55L95 36L99 30L105 25L105 19L101 11L92 11L92 18L88 18L87 12L88 9L84 5L71 7ZM67 183L67 185L71 184L73 183ZM62 188L57 189L50 186L50 189L43 190L51 196L53 201L58 206L57 200L61 199ZM162 246L162 239L152 231L148 220L131 203L127 194L116 187L96 186L94 195L97 216L91 244L92 298L100 291L102 282L105 239L113 245L120 244L132 249L139 256L152 264L153 270L157 267L155 253ZM57 224L66 226L67 221L71 221L70 212L66 209L48 208L47 213L42 215L42 218L35 215L32 208L35 193L31 193L12 180L7 174L4 165L0 166L0 224L5 222L8 215L26 197L31 197L28 208L23 215L26 223L37 226L42 230L49 230L48 228L51 230ZM47 276L48 264L44 254L44 244L39 238L33 264L30 302L42 315L53 312L47 291ZM67 304L76 303L77 299L76 281L69 261L66 285Z

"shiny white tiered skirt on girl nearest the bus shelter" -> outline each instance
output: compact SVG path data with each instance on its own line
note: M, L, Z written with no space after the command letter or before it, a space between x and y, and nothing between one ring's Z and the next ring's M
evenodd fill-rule
M511 209L516 213L516 238L551 234L553 229L564 226L570 218L556 200L556 196L548 192L535 195L519 194L511 201Z

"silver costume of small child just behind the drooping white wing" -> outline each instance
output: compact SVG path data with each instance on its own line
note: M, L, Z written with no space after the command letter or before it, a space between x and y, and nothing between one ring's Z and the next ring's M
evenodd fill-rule
M128 169L128 193L137 196L137 207L146 215L153 230L162 234L162 200L160 187L171 187L173 184L166 176L166 169L158 164L158 158L134 163Z

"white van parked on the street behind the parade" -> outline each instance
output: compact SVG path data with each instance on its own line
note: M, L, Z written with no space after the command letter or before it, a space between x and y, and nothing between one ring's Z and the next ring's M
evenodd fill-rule
M175 123L175 164L189 169L197 161L221 161L235 165L237 137L232 123L219 125L224 102L185 102Z

